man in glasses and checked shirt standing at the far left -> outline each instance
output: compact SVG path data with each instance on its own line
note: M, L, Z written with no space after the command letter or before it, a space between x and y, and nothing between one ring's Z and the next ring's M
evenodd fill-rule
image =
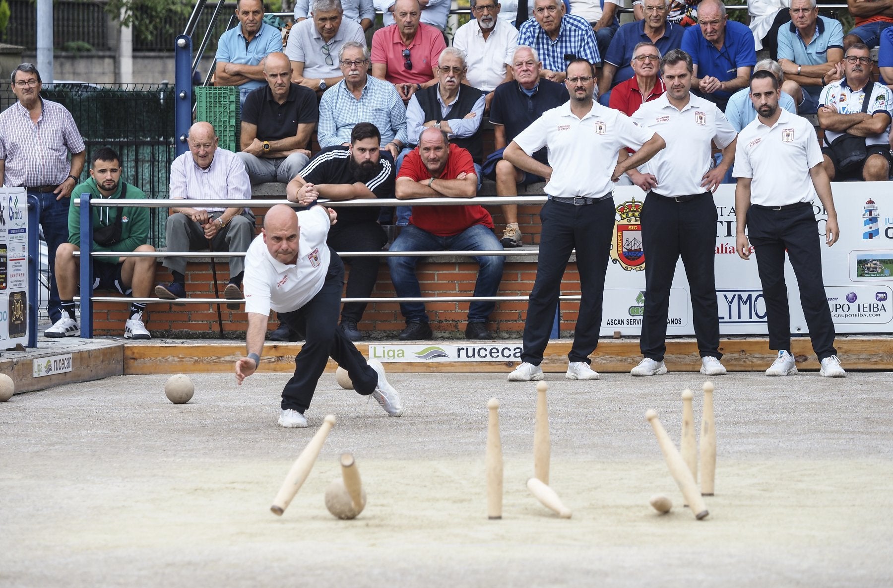
M47 312L56 323L62 318L62 308L55 254L68 240L69 197L84 171L87 148L71 113L40 97L40 73L34 65L21 63L11 77L19 100L0 113L0 177L4 186L24 187L40 203L40 226L50 268ZM41 140L36 140L38 137Z

